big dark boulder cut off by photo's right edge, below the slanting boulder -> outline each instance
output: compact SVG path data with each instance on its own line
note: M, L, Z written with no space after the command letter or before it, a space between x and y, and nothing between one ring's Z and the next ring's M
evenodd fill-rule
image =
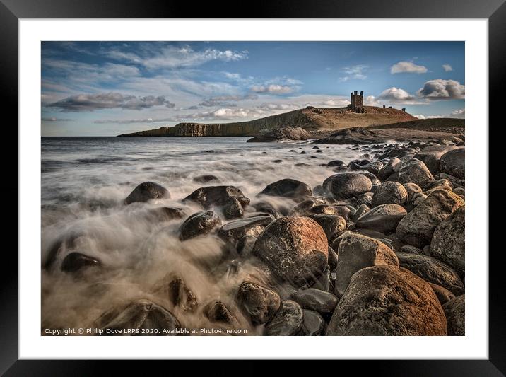
M460 207L435 228L430 255L452 266L461 276L466 262L466 207Z

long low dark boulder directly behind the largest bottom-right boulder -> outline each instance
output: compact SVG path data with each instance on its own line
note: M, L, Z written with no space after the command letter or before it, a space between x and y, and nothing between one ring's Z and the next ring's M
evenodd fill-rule
M425 282L440 285L456 296L464 294L464 283L449 265L428 255L397 253L397 257L401 267L409 269Z

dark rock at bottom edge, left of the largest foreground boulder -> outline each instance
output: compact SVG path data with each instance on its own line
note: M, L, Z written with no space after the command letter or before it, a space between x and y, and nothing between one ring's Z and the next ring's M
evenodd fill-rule
M295 301L285 300L276 315L265 325L264 335L297 335L302 327L302 308Z

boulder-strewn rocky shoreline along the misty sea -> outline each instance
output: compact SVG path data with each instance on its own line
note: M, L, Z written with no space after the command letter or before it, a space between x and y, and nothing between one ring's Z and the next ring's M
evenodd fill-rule
M176 221L182 244L219 240L220 257L206 267L234 282L235 305L204 300L167 274L146 297L89 325L175 335L201 315L215 328L247 323L259 335L464 335L465 137L412 132L391 142L388 133L351 129L314 141L315 151L352 143L363 153L328 161L334 174L315 187L283 178L249 198L235 186L204 185L182 207L156 207L153 221ZM143 182L123 205L156 203L170 189ZM187 214L186 205L199 210ZM48 274L109 273L107 261L73 243L69 236L54 246ZM258 273L236 282L246 262Z

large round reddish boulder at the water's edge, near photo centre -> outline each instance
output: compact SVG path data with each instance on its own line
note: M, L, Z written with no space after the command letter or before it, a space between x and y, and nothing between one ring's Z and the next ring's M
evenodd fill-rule
M294 286L322 274L329 250L325 232L307 217L281 217L267 226L253 246L253 255Z

